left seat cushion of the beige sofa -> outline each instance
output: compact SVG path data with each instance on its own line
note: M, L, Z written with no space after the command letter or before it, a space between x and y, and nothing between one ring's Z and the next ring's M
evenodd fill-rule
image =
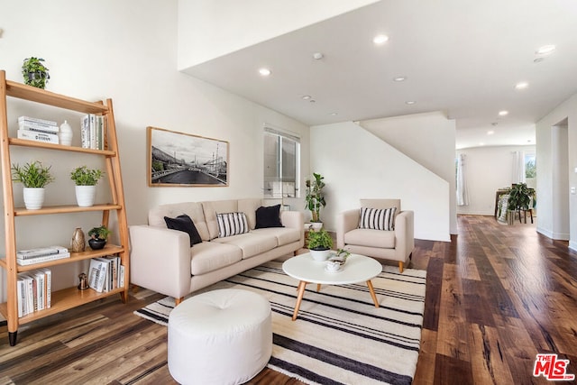
M232 244L203 242L190 249L190 256L190 272L200 275L241 261L243 252Z

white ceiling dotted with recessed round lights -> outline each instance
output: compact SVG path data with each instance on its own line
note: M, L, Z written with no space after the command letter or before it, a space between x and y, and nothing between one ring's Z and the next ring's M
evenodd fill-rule
M382 0L184 72L308 125L444 111L457 148L534 144L536 121L577 93L577 1Z

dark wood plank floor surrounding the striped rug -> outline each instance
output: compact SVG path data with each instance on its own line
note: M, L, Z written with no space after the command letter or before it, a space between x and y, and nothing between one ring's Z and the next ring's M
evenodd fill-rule
M550 383L532 376L536 353L557 353L577 373L577 253L535 225L458 220L451 243L417 241L409 266L428 271L413 383ZM166 327L133 315L161 297L105 300L24 325L15 347L0 327L0 384L174 383ZM264 370L250 383L301 382Z

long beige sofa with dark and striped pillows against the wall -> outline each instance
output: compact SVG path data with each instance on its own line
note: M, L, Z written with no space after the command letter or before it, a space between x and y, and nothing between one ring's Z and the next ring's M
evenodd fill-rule
M303 247L303 214L280 211L284 227L255 229L261 199L186 202L152 208L148 225L131 225L131 283L177 299ZM250 232L219 238L216 213L243 212ZM164 216L188 215L202 243L167 228Z

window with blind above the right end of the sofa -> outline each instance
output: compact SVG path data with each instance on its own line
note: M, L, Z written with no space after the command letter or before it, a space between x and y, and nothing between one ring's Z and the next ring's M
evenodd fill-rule
M264 197L298 197L300 138L264 128Z

